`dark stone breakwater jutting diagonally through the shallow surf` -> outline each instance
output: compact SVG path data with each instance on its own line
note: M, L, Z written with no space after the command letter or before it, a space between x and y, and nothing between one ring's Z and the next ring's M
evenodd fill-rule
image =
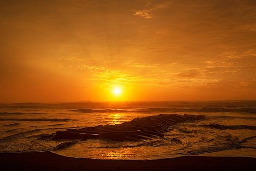
M205 119L203 115L159 114L136 118L116 125L98 125L81 129L58 131L53 139L112 139L117 141L140 141L164 136L169 127L180 122Z

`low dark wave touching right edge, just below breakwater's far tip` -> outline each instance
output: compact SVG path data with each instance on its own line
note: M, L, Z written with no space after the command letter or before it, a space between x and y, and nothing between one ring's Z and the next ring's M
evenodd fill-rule
M256 130L256 126L249 126L249 125L220 125L220 124L209 124L209 125L201 125L201 127L205 128L215 128L219 130L238 130L238 129L249 129L249 130Z

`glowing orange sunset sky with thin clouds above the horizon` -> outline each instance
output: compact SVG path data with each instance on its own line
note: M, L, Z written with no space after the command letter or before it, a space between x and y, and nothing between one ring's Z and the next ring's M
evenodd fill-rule
M1 103L256 99L255 56L255 0L0 1Z

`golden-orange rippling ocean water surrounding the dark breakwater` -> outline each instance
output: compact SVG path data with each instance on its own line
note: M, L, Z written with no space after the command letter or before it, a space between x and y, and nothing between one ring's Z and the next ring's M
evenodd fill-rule
M114 125L160 113L204 115L206 119L179 123L164 137L139 142L52 140L58 130ZM0 104L0 152L35 151L94 159L256 157L256 101Z

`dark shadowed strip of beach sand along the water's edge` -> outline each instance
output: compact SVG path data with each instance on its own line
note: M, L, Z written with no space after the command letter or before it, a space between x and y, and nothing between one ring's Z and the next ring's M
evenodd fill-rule
M256 171L256 158L179 157L158 160L100 160L51 152L0 153L0 171Z

